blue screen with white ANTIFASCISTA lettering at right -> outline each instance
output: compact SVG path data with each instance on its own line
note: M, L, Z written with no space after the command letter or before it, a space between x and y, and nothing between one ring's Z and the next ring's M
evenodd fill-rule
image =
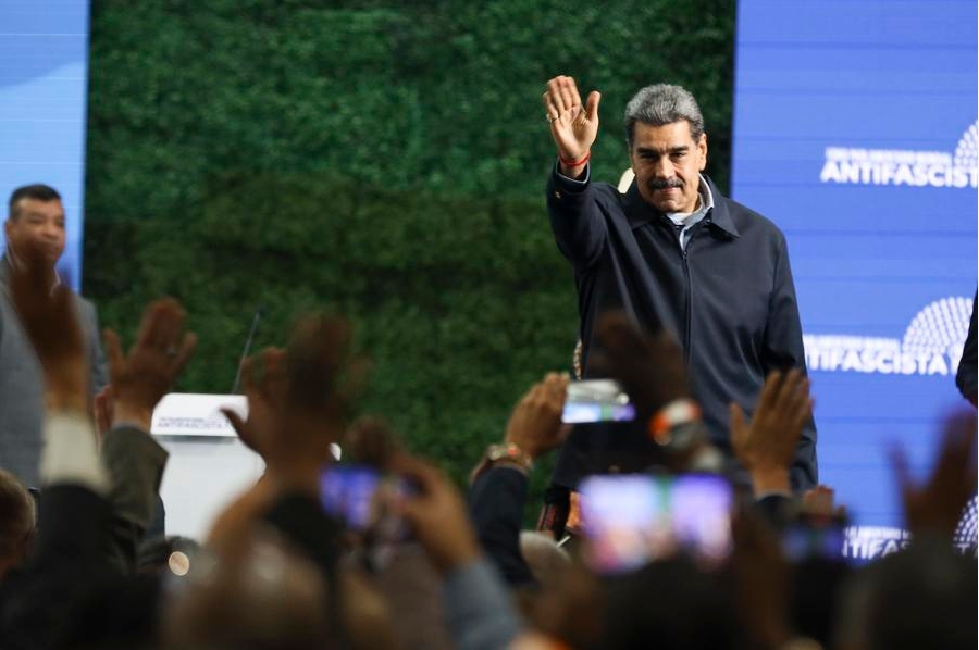
M889 448L922 475L965 404L976 25L975 0L739 2L732 195L789 240L820 482L856 559L907 539Z

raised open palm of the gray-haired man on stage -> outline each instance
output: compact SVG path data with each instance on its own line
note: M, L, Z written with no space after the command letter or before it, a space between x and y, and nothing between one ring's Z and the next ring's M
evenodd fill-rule
M584 170L592 145L598 137L602 93L593 90L587 103L582 103L574 79L557 76L547 82L543 100L545 116L550 122L550 135L561 159L561 173L575 177Z

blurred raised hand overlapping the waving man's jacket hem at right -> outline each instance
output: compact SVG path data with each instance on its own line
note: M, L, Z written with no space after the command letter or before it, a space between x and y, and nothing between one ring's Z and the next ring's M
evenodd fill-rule
M732 402L731 447L752 475L755 492L789 490L789 467L803 427L813 413L809 380L800 370L768 375L751 424Z

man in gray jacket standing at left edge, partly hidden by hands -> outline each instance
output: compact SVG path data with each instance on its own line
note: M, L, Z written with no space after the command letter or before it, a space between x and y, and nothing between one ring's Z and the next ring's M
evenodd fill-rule
M17 248L37 245L50 265L51 287L60 283L55 264L64 252L64 207L47 185L27 185L13 191L3 224L7 251L0 258L0 467L28 486L37 486L41 452L45 388L41 368L24 334L10 297L10 270L18 264ZM106 359L99 342L95 307L73 295L85 338L92 396L108 384Z

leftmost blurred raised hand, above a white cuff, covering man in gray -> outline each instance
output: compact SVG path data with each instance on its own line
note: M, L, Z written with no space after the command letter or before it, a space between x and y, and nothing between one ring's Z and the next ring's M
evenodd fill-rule
M64 285L53 285L51 266L36 245L18 251L10 292L45 376L49 409L88 411L88 360L82 328Z

